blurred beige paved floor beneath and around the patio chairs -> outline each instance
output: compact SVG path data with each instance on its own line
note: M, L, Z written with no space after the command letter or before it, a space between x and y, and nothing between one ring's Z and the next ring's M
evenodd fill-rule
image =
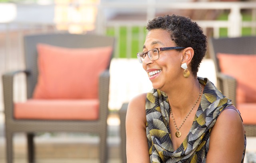
M24 135L14 138L14 163L27 163L26 141ZM97 138L95 137L58 137L47 138L47 135L36 139L37 163L98 163ZM109 138L108 162L121 163L120 139ZM247 138L247 151L244 163L256 163L256 137ZM0 138L0 163L5 160L5 142Z

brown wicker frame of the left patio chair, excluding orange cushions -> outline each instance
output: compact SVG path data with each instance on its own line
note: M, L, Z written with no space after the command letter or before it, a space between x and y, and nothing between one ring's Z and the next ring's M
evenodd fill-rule
M109 95L109 66L100 74L98 79L98 119L96 120L44 120L44 119L15 119L13 100L14 76L19 73L26 74L27 98L33 98L33 91L38 81L37 45L38 43L65 48L114 48L114 38L98 35L78 34L40 34L24 36L24 52L26 70L8 72L2 76L4 88L4 111L6 118L6 158L7 163L12 163L13 141L15 132L24 132L27 135L28 162L35 161L33 137L36 132L90 132L100 136L99 156L100 163L107 162L107 116L108 116L108 95ZM112 52L111 52L112 54ZM102 54L101 54L102 55ZM90 60L90 58L88 58ZM93 68L91 69L93 71ZM75 73L75 72L74 72ZM86 109L86 108L85 108Z

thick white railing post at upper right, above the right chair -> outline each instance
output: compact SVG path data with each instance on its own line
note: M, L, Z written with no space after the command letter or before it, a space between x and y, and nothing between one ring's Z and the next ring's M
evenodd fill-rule
M242 15L238 4L231 6L228 15L228 37L239 37L242 35Z

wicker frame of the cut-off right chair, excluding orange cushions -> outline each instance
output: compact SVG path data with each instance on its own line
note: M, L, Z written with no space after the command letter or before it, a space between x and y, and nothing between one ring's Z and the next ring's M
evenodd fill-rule
M222 93L226 97L232 100L232 103L236 105L238 110L240 108L238 105L238 101L236 100L237 79L232 76L229 76L228 74L223 74L221 72L217 54L224 53L224 54L233 54L233 55L240 55L240 54L255 55L256 54L255 45L256 45L256 36L246 36L246 37L237 37L237 38L210 38L209 40L209 53L210 53L210 57L214 61L215 68L216 68L217 87L222 91ZM248 64L255 65L255 63L248 63ZM250 106L252 105L255 105L254 108L256 110L256 101L255 103L250 103ZM246 136L256 136L256 124L245 124L245 129L246 129Z

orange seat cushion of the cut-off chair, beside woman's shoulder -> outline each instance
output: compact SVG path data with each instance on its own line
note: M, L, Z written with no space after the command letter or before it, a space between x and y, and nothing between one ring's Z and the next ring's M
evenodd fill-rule
M239 103L237 108L241 113L241 117L246 125L256 124L256 103Z

